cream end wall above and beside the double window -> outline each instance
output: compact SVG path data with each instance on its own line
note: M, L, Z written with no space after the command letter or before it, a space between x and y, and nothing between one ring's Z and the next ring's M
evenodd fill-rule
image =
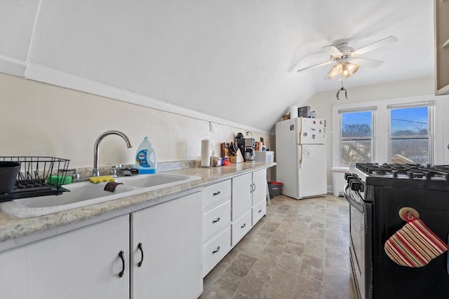
M348 79L350 80L350 79ZM396 81L391 83L384 83L379 85L370 85L363 88L347 88L348 99L344 98L344 95L340 92L340 99L336 98L337 90L332 92L320 92L313 95L304 106L311 106L311 110L316 111L317 118L325 118L327 120L327 163L328 163L328 185L332 184L332 176L330 167L333 166L333 113L332 108L334 105L348 104L359 102L371 102L382 101L385 99L396 99L400 97L415 97L419 95L433 95L434 94L434 78L419 78L408 81ZM449 132L444 132L443 128L449 125L448 120L445 120L444 115L449 113L449 104L445 104L444 97L438 98L438 107L436 111L435 125L438 127L438 132L441 132L440 139L436 145L438 151L436 156L436 163L443 164L448 163L448 151L441 150L443 144L448 144ZM443 113L446 111L446 113ZM443 137L443 140L441 140Z

